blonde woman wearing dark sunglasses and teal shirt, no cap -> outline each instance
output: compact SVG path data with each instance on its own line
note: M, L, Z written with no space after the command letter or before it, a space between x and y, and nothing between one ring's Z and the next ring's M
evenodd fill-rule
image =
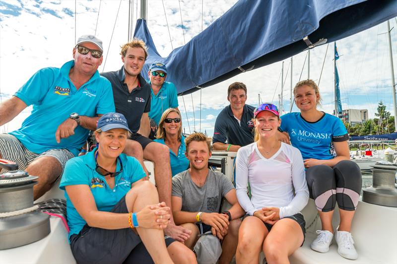
M172 176L187 170L189 159L186 158L185 137L182 135L181 114L175 108L164 111L158 124L156 140L170 149Z

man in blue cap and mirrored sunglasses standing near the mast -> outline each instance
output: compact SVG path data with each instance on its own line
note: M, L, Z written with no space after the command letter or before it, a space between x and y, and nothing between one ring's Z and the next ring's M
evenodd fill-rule
M151 104L149 117L156 124L160 122L161 115L168 108L178 109L177 88L171 82L166 82L167 67L161 62L153 63L147 73L151 86Z

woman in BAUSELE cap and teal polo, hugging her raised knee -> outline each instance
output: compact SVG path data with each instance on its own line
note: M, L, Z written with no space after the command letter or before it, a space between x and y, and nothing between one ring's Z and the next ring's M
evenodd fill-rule
M122 154L129 133L123 114L107 113L98 120L97 147L66 163L60 188L73 256L80 264L194 263L186 246L164 239L170 211L140 163Z

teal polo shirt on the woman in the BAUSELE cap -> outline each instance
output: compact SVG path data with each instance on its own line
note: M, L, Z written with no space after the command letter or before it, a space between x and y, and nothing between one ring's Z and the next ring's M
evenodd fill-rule
M88 185L98 211L111 211L112 208L131 189L131 184L146 174L136 158L121 154L123 171L115 177L115 187L111 189L106 183L105 176L95 170L95 148L84 156L71 158L66 162L64 174L61 178L60 189L65 190L68 185ZM120 171L120 160L117 159L116 171ZM65 191L67 224L72 234L78 234L87 223L74 208Z

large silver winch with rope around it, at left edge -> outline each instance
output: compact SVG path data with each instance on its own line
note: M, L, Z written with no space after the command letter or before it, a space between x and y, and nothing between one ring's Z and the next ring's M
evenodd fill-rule
M18 165L0 159L0 250L33 243L50 232L50 216L36 211L33 186L37 176L18 170Z

